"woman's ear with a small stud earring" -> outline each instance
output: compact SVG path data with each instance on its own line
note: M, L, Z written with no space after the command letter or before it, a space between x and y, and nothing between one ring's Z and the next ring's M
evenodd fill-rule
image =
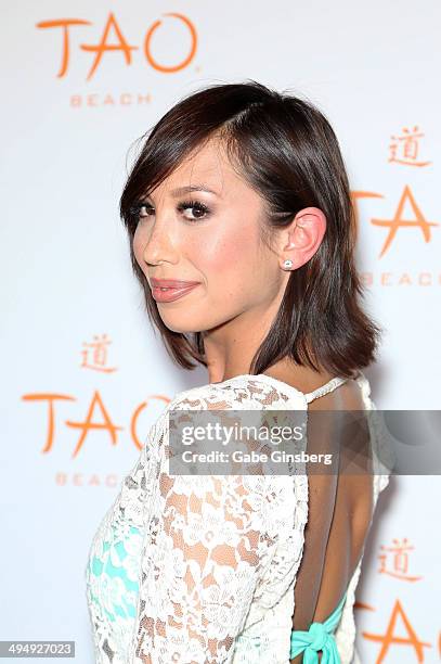
M304 207L289 226L280 229L277 255L282 269L296 270L315 254L326 231L326 217L319 207ZM289 259L289 268L284 261Z

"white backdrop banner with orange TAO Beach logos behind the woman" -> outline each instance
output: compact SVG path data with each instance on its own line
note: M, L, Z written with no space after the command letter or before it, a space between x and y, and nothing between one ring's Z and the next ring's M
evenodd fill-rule
M377 408L441 401L438 2L1 1L3 640L93 659L91 539L152 422L204 368L172 365L118 201L183 95L255 79L307 98L341 144L365 306L385 330ZM436 472L436 471L434 471ZM437 474L392 477L356 591L363 663L438 662Z

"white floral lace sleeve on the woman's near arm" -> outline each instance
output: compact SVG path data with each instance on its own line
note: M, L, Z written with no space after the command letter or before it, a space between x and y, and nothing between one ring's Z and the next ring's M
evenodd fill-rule
M219 392L169 406L233 408ZM273 544L261 525L267 477L170 475L166 457L142 557L135 662L228 663Z

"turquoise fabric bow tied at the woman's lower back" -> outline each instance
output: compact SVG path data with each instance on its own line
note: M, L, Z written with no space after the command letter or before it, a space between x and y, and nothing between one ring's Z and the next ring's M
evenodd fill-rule
M323 623L312 623L308 631L293 629L289 657L293 660L303 653L303 664L316 664L319 650L322 651L321 664L341 664L334 631L340 622L346 602L346 592L338 606Z

